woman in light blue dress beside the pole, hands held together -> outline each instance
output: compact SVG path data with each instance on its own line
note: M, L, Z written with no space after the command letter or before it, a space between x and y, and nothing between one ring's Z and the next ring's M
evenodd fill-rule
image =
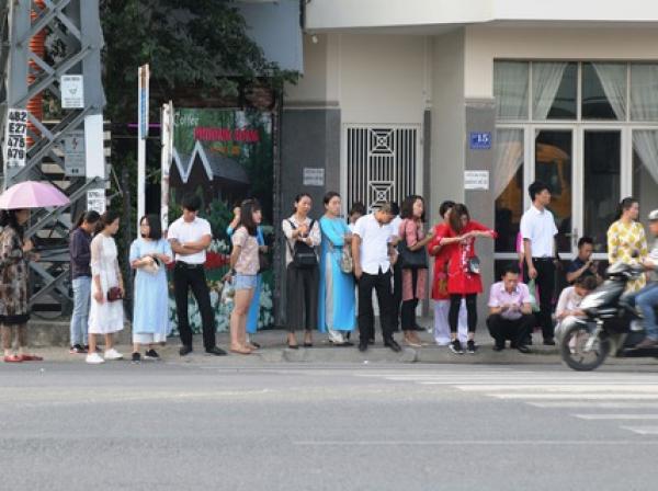
M133 307L133 362L140 362L139 346L146 345L145 358L159 359L154 344L163 343L171 332L167 264L173 258L171 246L162 238L160 218L147 215L139 220L140 238L131 244L131 266L135 273Z

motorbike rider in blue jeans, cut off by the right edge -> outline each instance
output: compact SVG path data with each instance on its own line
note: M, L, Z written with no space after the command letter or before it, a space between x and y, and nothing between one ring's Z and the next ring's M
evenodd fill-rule
M655 241L648 258L644 261L644 266L648 271L647 286L633 295L635 306L644 317L647 333L647 336L635 345L639 349L658 346L658 324L655 311L658 306L658 209L649 213L649 230Z

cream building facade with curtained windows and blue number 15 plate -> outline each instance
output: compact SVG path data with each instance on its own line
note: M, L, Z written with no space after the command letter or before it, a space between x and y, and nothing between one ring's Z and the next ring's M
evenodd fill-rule
M535 179L565 259L583 235L605 256L622 197L658 207L658 3L310 0L305 19L284 196L324 168L318 197L340 190L345 208L416 193L435 222L443 199L464 202L499 231L479 247L499 261Z

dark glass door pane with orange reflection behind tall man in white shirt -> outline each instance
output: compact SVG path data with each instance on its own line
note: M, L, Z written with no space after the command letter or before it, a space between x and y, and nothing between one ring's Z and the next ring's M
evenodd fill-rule
M565 259L574 252L574 128L551 127L534 130L534 178L552 190L549 209L557 226L557 248Z

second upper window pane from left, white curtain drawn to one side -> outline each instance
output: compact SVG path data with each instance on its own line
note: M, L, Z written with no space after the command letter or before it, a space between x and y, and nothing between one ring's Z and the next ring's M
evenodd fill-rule
M532 94L533 119L576 119L578 64L533 62Z

